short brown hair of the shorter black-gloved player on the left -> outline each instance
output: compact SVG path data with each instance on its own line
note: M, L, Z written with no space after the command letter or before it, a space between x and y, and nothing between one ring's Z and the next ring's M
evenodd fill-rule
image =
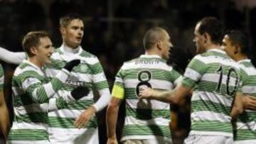
M50 38L50 35L46 31L31 31L27 33L23 40L22 46L23 50L28 54L28 57L33 56L31 53L31 47L36 47L40 43L40 38Z

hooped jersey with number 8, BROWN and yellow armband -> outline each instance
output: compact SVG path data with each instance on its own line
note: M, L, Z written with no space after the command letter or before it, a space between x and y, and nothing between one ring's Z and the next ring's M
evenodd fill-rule
M171 141L170 105L156 100L139 100L139 89L174 89L181 74L158 55L141 55L124 62L117 73L112 96L126 101L122 140L158 139Z

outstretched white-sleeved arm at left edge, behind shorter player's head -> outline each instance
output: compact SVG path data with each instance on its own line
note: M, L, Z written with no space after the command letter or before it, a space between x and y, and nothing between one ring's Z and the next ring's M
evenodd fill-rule
M0 60L4 62L18 65L25 59L25 52L11 52L0 47Z

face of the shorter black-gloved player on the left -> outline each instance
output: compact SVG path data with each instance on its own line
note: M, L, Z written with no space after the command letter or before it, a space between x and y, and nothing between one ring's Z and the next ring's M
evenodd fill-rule
M53 54L53 44L50 38L40 38L38 46L35 48L36 58L41 65L50 63L50 56Z

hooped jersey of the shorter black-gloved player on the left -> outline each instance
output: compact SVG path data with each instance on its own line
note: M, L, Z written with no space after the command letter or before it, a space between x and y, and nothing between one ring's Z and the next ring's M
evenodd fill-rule
M49 82L43 70L27 60L16 68L12 79L14 123L9 143L49 143L47 114L51 104L56 109L62 106L64 99L52 97L68 75L68 71L61 70Z

